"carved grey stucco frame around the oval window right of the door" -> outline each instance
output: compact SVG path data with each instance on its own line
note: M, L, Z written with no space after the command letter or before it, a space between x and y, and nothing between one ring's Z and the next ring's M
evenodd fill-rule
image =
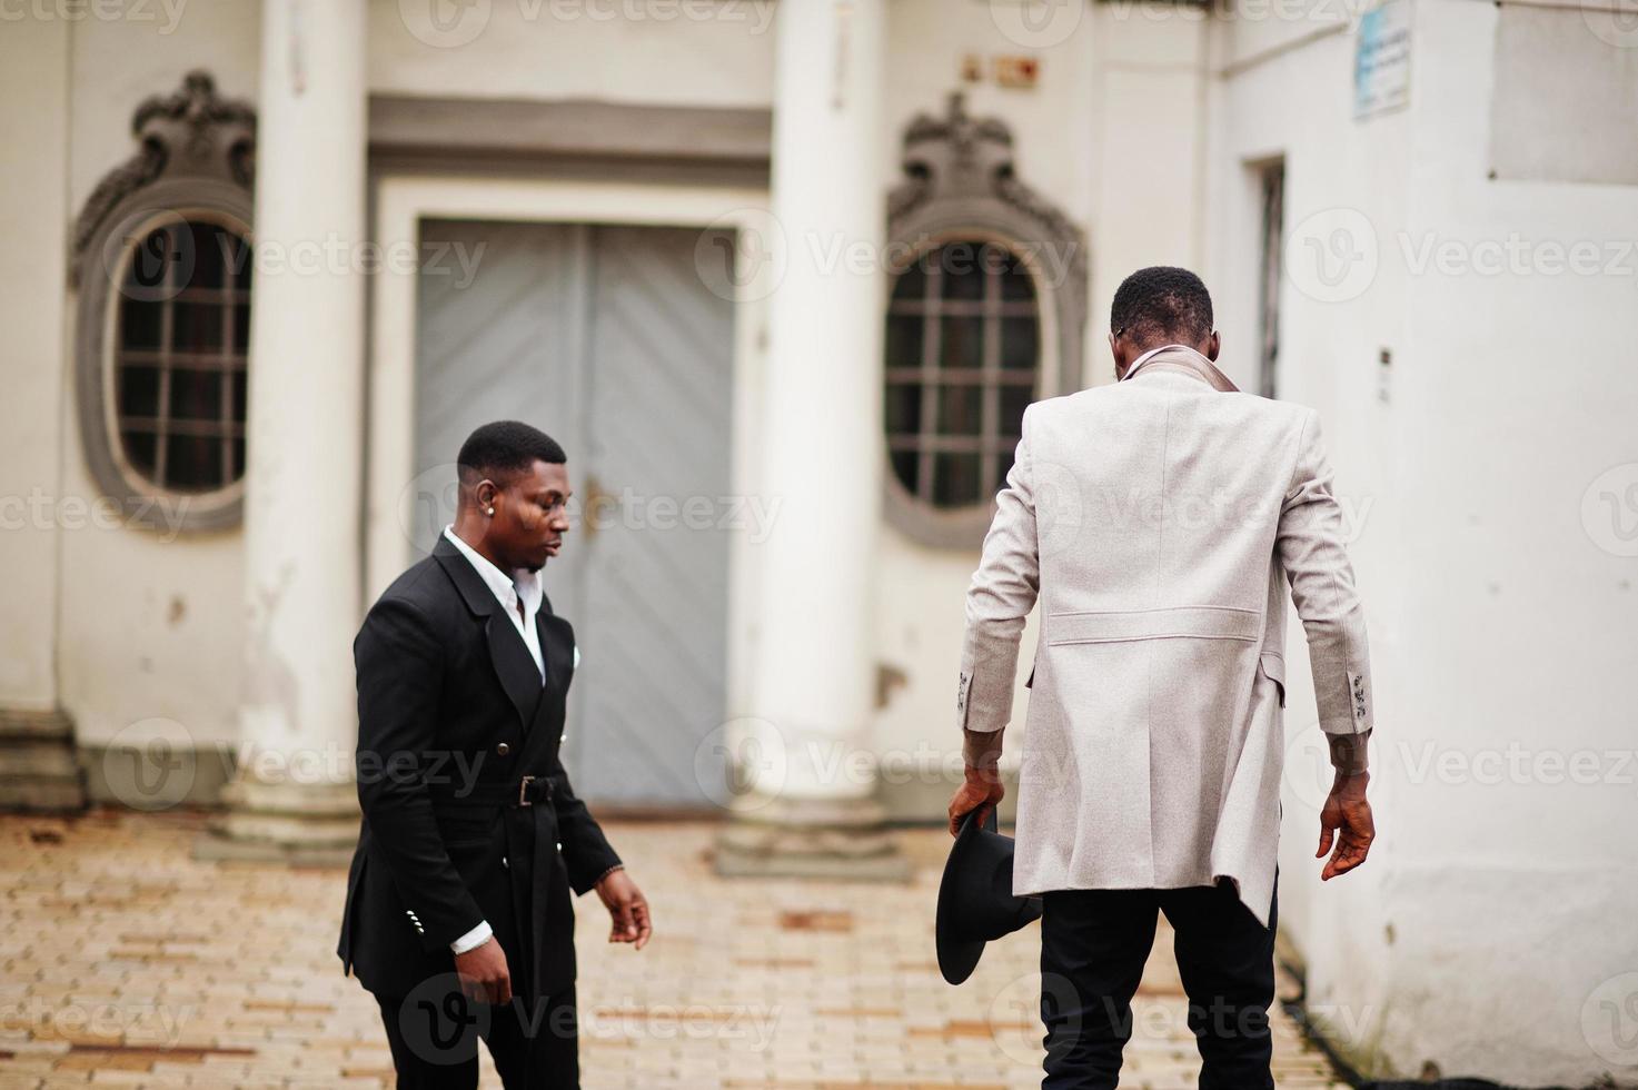
M1040 303L1040 384L1035 397L1079 388L1086 329L1086 234L1012 169L1012 133L998 118L973 118L960 92L942 118L917 115L904 129L904 182L888 197L888 311L898 274L929 249L989 241L1019 256ZM886 459L883 441L881 457ZM971 549L994 503L937 508L911 493L891 467L883 474L888 521L914 541Z

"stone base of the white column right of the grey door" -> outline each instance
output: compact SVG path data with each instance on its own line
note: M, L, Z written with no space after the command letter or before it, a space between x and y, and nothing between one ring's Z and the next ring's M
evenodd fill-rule
M909 882L914 872L868 798L780 800L742 813L717 834L714 867L731 879L844 882Z

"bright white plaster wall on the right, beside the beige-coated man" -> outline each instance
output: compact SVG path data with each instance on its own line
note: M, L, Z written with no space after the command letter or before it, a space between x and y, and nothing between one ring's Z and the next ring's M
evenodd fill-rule
M1250 338L1255 293L1232 287L1256 262L1243 164L1279 151L1287 234L1343 225L1379 248L1374 277L1342 302L1315 298L1297 256L1283 288L1281 395L1320 408L1356 518L1379 734L1373 857L1322 888L1312 688L1292 670L1281 918L1310 1006L1378 1074L1432 1062L1586 1085L1633 1077L1599 1003L1630 1003L1620 974L1638 969L1638 870L1620 833L1638 818L1638 723L1617 682L1638 652L1635 569L1599 547L1582 495L1638 459L1635 274L1417 259L1428 241L1482 259L1515 234L1620 244L1638 238L1638 202L1487 180L1495 20L1492 5L1420 0L1410 110L1369 121L1351 118L1348 34L1230 70L1212 105L1209 269L1227 288L1225 343ZM1225 31L1219 48L1242 26Z

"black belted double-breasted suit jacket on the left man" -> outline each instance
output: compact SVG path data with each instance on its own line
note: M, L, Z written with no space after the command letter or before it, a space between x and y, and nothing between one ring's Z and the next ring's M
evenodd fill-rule
M336 952L377 995L452 972L449 944L483 920L519 995L575 979L570 890L619 856L559 761L573 628L545 602L537 624L544 685L505 606L439 538L352 644L364 821Z

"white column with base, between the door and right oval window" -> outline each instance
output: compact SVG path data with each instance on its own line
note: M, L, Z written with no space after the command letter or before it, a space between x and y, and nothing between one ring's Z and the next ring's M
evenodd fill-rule
M881 511L881 72L886 0L778 7L773 269L750 700L773 761L747 769L724 870L903 872L871 834L875 539ZM765 751L763 751L765 752Z

